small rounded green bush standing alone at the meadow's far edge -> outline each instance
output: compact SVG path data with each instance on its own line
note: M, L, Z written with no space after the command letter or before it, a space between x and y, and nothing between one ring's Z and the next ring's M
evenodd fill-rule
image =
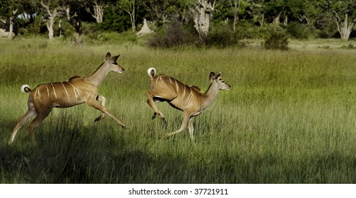
M272 24L267 28L262 45L267 50L288 50L287 32L279 25Z

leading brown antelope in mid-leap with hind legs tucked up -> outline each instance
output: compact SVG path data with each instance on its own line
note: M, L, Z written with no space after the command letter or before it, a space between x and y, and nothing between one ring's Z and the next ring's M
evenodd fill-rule
M217 76L215 76L213 72L210 73L211 83L206 93L200 93L200 89L198 87L187 86L170 76L162 74L155 76L155 74L155 68L151 67L148 69L151 90L146 91L146 93L147 103L155 111L152 119L160 116L162 121L166 122L165 115L163 115L155 105L155 102L158 101L167 101L167 103L170 103L170 105L173 107L184 112L184 117L180 129L175 132L166 134L165 137L182 132L186 128L186 125L188 125L189 135L191 140L194 140L194 116L201 114L201 111L213 103L220 89L230 90L231 88L231 86L223 81L221 78L221 73L219 73Z

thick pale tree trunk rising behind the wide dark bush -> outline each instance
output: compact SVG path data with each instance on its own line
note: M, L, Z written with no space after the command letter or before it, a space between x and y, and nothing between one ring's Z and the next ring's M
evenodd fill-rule
M213 3L213 5L212 5ZM201 40L209 34L210 13L214 10L215 0L197 0L194 13L194 28Z

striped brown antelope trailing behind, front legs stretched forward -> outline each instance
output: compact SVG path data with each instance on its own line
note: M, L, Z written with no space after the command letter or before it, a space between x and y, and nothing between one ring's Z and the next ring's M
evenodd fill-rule
M13 129L8 143L13 143L13 139L15 139L20 127L33 117L35 117L35 119L28 125L28 133L30 139L35 141L33 130L49 115L53 107L66 108L83 103L87 103L90 107L101 111L100 117L97 117L95 121L102 120L105 114L107 114L112 117L117 124L126 129L125 124L107 110L105 107L105 98L97 94L97 86L99 86L105 76L109 74L109 71L124 73L124 69L117 64L119 56L120 55L111 57L111 54L107 52L105 62L100 65L97 71L86 78L74 76L70 78L69 81L41 84L32 90L30 86L23 85L21 91L23 91L23 93L30 93L30 97L28 98L28 112L16 123L16 127ZM102 101L102 105L97 103L97 100Z

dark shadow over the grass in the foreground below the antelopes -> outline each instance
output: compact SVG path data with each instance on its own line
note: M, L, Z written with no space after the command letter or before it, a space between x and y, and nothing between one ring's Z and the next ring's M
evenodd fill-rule
M206 144L184 152L174 150L181 148L174 147L179 141L170 141L169 151L154 153L133 132L121 132L112 124L89 128L78 120L61 119L64 124L57 127L39 127L36 144L25 139L13 146L0 143L1 183L356 182L355 156L337 152L302 159L280 153L210 154L214 148ZM210 150L201 153L199 146Z

